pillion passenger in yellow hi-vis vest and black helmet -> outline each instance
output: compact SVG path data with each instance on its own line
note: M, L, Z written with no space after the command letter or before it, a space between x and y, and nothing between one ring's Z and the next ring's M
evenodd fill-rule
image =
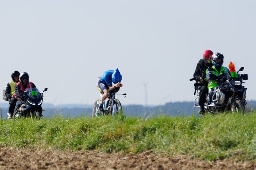
M14 87L19 82L19 75L20 75L20 73L17 70L13 71L11 74L12 81L7 83L7 86L5 89L5 96L6 96L7 100L9 101L9 109L8 109L8 113L7 113L7 116L8 116L7 119L12 118L15 104L17 102L17 98L15 97Z

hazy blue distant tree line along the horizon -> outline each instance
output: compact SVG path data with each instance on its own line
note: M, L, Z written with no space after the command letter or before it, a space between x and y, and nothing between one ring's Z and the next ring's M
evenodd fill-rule
M8 111L8 105L1 106L2 108L2 117L6 117ZM48 105L43 105L44 117L64 115L68 117L77 117L77 116L91 116L92 115L92 106L66 106L60 105L58 107ZM191 114L197 115L198 107L194 107L194 102L168 102L164 105L158 106L143 106L143 105L124 105L123 111L127 116L135 117L154 117L161 114L170 115L170 116L190 116ZM246 105L246 110L256 110L256 101L248 101Z

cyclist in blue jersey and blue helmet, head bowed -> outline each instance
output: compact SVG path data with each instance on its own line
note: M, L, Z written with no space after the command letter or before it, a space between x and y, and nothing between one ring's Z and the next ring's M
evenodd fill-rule
M99 110L103 111L103 102L108 97L109 90L118 92L120 87L123 87L123 84L120 83L122 80L122 75L119 70L108 70L103 73L100 80L98 81L98 90L102 94ZM114 83L114 86L112 85Z

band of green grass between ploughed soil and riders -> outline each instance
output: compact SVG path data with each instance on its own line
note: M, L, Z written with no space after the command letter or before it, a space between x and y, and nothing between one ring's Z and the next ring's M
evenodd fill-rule
M151 150L210 161L233 156L238 161L255 161L256 112L148 119L104 116L1 120L0 145L107 153Z

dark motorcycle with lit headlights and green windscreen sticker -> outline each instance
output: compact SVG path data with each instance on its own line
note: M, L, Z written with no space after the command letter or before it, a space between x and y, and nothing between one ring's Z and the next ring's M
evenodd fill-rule
M47 91L48 88L45 88L43 92ZM21 93L21 91L19 91ZM23 93L21 93L20 98L23 98L22 101L17 105L14 112L14 117L31 117L42 118L42 103L43 103L43 93L40 93L37 88L27 88ZM18 102L17 102L18 103Z

